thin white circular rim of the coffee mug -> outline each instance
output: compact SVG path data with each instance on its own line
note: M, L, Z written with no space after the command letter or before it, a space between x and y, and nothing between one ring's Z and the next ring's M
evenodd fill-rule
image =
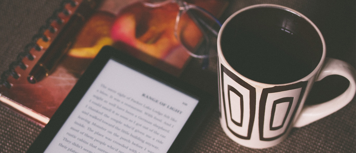
M314 68L314 70L312 72L310 72L307 76L299 79L299 80L296 80L296 81L293 81L293 82L288 82L288 83L282 83L282 84L269 84L269 83L263 83L263 82L258 82L258 81L255 81L255 80L251 80L250 78L247 78L245 77L244 75L242 75L241 73L237 72L234 68L232 68L232 66L226 61L224 55L223 55L223 51L221 49L221 35L223 33L223 31L225 30L225 27L226 27L226 24L228 22L230 22L230 20L232 20L232 18L234 18L237 14L243 12L243 11L246 11L246 10L250 10L250 9L255 9L255 8L259 8L259 7L272 7L272 8L277 8L277 9L282 9L282 10L285 10L285 11L288 11L288 12L291 12L291 13L294 13L295 15L298 15L299 17L302 17L305 21L307 21L310 25L313 26L313 28L315 29L315 31L318 33L319 35L319 38L321 40L321 44L323 46L323 53L321 55L321 58L320 58L320 61L318 63L318 65ZM321 69L321 67L323 66L323 63L325 61L325 56L326 56L326 45L325 45L325 40L324 40L324 37L323 35L321 34L320 30L318 27L316 27L316 25L309 19L307 18L306 16L304 16L302 13L298 12L298 11L295 11L293 9L290 9L289 7L285 7L285 6L281 6L281 5L276 5L276 4L256 4L256 5L251 5L251 6L247 6L247 7L244 7L236 12L234 12L232 15L230 15L226 20L225 22L223 23L223 25L221 26L220 28L220 31L218 33L218 39L217 39L217 47L218 47L218 56L221 58L222 61L220 61L221 63L225 63L228 67L229 67L229 70L232 71L233 73L237 73L239 74L239 77L243 78L244 80L246 81L249 81L251 83L254 83L256 85L258 84L262 84L262 85L278 85L278 86L281 86L281 85L286 85L286 84L292 84L292 83L297 83L297 82L300 82L300 81L306 81L306 80L309 80L310 78L312 78L316 73L319 72L319 70ZM218 65L219 66L219 65Z

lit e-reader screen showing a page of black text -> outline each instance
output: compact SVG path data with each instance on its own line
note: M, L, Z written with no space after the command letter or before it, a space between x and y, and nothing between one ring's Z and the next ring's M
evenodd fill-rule
M45 152L165 153L198 101L110 59Z

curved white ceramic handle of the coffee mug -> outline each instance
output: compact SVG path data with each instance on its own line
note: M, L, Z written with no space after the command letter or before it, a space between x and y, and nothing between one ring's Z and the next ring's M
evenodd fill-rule
M300 112L299 118L294 122L294 127L302 127L324 118L325 116L328 116L343 108L354 98L356 92L356 72L354 67L347 62L338 59L326 58L325 64L319 72L319 76L316 81L320 81L329 75L340 75L347 78L347 80L350 81L349 87L344 93L327 102L304 106Z

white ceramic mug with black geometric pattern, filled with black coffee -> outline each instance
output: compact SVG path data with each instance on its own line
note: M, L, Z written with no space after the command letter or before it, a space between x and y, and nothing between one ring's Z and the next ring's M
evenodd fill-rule
M292 127L334 113L355 95L354 67L326 58L319 29L290 8L241 9L224 22L217 44L220 123L242 146L272 147ZM344 76L350 86L328 102L303 106L313 83L329 75Z

